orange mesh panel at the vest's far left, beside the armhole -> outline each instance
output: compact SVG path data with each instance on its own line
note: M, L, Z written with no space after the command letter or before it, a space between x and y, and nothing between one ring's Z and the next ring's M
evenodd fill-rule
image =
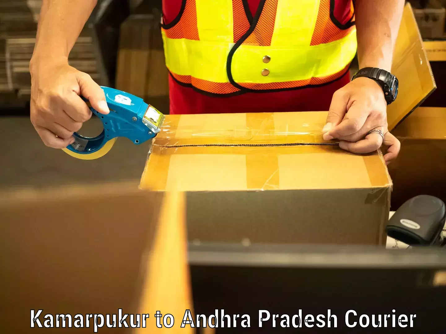
M188 40L199 41L195 0L186 0L184 12L178 23L172 28L163 30L168 38L186 38Z

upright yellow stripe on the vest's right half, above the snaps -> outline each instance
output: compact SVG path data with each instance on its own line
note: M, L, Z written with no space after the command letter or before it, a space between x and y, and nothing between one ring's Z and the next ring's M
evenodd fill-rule
M271 46L310 45L318 11L319 0L278 1Z

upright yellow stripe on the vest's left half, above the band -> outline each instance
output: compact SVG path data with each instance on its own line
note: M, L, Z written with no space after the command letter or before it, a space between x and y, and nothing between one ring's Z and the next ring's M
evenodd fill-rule
M195 4L200 40L232 43L232 0L195 0Z

